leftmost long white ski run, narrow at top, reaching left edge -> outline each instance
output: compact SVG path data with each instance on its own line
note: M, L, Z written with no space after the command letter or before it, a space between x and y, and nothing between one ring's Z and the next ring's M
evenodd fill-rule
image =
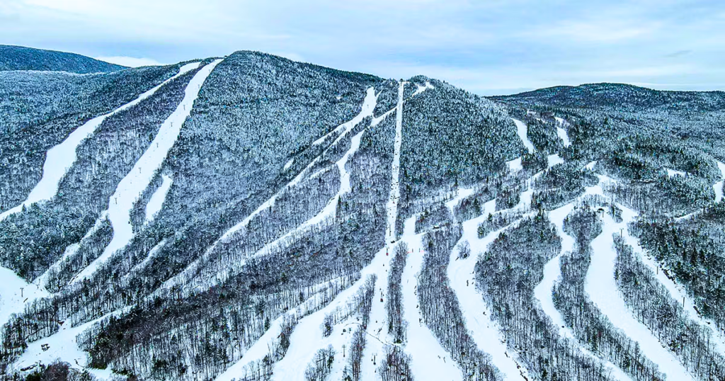
M160 89L166 83L169 83L170 81L173 81L175 78L178 78L184 73L188 73L189 71L196 69L196 67L199 67L199 63L200 62L194 62L183 65L179 69L178 74L167 79L153 89L146 91L144 94L139 95L138 98L134 99L131 102L128 102L127 104L117 108L116 110L88 120L88 122L83 124L83 126L76 128L75 131L70 133L70 135L68 135L68 137L63 142L49 149L46 153L45 163L43 163L43 176L41 177L41 181L38 181L36 187L34 187L33 190L30 191L27 200L23 201L22 204L17 205L12 209L6 210L4 213L1 213L0 221L4 220L5 218L7 218L7 216L13 213L20 212L23 205L28 206L36 202L47 201L53 198L58 192L58 185L60 184L61 179L63 179L65 173L70 169L70 167L72 167L73 163L75 163L75 159L77 158L75 149L78 148L78 145L80 145L83 140L94 134L96 128L98 128L98 126L100 126L101 123L106 120L106 118L109 118L110 116L115 115L123 110L127 110L130 107L138 105L138 103L140 103L144 99L151 97L158 89Z

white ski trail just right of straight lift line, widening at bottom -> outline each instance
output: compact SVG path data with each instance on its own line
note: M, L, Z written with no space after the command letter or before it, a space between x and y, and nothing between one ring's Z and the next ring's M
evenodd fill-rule
M403 316L407 321L405 352L410 354L410 369L418 381L463 380L455 361L423 321L418 301L418 274L423 266L423 234L415 234L415 216L405 221L402 239L408 244L408 255L402 274Z

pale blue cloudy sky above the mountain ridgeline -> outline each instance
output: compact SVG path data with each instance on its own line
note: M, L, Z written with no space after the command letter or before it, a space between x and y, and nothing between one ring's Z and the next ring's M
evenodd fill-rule
M0 0L0 44L172 63L251 49L478 94L725 89L725 1Z

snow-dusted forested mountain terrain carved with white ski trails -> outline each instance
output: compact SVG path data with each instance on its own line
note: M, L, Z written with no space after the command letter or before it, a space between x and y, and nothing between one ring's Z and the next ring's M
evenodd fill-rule
M236 52L0 94L3 377L725 380L721 93Z

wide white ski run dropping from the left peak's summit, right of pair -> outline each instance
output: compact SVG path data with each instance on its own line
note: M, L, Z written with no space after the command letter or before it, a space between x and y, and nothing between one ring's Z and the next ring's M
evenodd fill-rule
M183 126L184 121L186 121L186 118L191 113L191 108L194 106L196 97L199 96L199 90L202 88L202 84L219 62L221 60L215 60L209 65L202 67L194 75L194 78L191 78L191 81L189 81L184 90L184 97L181 103L179 103L176 110L161 125L159 132L151 144L149 144L149 148L146 149L144 155L141 155L136 165L133 165L133 169L131 169L116 187L116 192L109 198L107 210L107 216L113 227L113 238L99 258L96 258L86 269L83 269L83 271L80 271L74 277L74 282L94 274L101 263L107 261L116 250L122 249L133 238L133 229L130 224L130 210L133 208L136 200L141 197L144 190L151 184L151 181L154 179L154 174L162 165L169 149L175 144L179 132L181 132L181 126Z

